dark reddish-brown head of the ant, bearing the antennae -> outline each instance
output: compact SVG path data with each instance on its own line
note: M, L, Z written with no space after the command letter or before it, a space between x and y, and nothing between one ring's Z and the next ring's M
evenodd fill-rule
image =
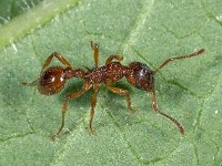
M154 83L153 71L141 62L130 63L125 77L131 85L143 91L151 91Z

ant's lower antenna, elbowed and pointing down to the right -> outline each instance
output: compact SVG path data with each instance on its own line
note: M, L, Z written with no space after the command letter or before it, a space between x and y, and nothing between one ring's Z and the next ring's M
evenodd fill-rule
M157 100L155 100L155 87L154 87L154 85L152 87L152 93L153 93L153 101L152 101L153 110L157 113L159 113L159 114L165 116L167 118L169 118L170 121L172 121L179 127L181 136L184 136L184 128L183 128L183 126L175 118L171 117L170 115L163 113L161 110L158 108L158 104L157 104Z

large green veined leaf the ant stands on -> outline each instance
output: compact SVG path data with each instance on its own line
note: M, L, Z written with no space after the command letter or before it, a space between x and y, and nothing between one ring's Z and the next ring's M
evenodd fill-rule
M33 2L22 12L14 9L13 19L0 27L0 165L222 165L221 1ZM8 8L6 1L0 4ZM11 13L0 12L1 18ZM88 133L90 91L69 103L62 134L49 141L61 125L63 97L80 90L82 80L68 81L52 96L21 82L36 80L52 52L73 68L93 68L90 41L100 45L100 65L122 54L123 64L139 61L153 70L171 56L205 49L155 75L158 105L184 126L184 137L172 122L153 114L151 94L123 79L117 86L131 92L137 113L101 86L97 134Z

